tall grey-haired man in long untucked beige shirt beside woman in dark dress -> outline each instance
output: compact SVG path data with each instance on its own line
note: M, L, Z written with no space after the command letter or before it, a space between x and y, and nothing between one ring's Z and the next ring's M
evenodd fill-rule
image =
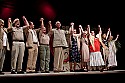
M61 29L61 23L59 21L55 24L55 29L52 29L51 35L53 35L53 48L54 48L54 72L64 72L64 48L68 47L68 43L65 37L65 31Z

